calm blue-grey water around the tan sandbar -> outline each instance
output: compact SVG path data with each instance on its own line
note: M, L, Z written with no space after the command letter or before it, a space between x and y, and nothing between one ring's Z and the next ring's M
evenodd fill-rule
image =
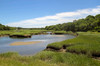
M18 52L20 55L34 55L37 52L44 50L46 46L50 43L72 39L74 37L75 36L72 35L33 35L32 38L25 39L0 37L0 53ZM13 42L29 41L41 41L41 43L17 46L10 45Z

